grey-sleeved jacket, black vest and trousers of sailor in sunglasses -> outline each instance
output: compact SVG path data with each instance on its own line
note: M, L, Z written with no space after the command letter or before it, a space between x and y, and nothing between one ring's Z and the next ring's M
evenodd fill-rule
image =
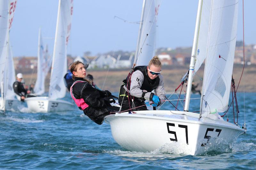
M160 100L165 99L163 76L159 74L155 79L150 79L148 77L147 66L135 67L131 76L131 84L127 81L128 77L124 80L124 84L121 85L119 92L118 102L120 105L122 104L121 111L128 110L133 107L138 107L133 110L148 110L146 106L139 106L145 105L145 100L152 101L152 97L154 95L152 92L153 90L155 90L155 93ZM128 90L126 88L127 83L129 83ZM130 100L128 100L127 91L129 91Z

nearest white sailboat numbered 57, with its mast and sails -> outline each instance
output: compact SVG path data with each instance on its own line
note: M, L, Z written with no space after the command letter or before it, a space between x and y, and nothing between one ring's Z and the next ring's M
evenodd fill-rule
M147 110L106 116L105 122L111 126L112 136L119 145L140 152L171 146L174 153L200 155L211 150L212 143L232 144L246 132L245 125L226 122L219 115L228 108L237 11L238 0L199 0L184 111ZM200 22L205 19L209 24L202 34ZM206 27L207 24L202 29ZM205 44L200 42L200 36L202 41L207 37ZM200 114L197 114L189 112L189 100L195 68L200 64L196 63L200 51L205 53L205 57L198 58L201 62L205 58L205 68Z

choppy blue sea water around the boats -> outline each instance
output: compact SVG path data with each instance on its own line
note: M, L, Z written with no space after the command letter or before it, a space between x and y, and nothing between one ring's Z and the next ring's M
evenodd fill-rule
M127 151L115 142L108 124L97 125L76 107L60 113L28 113L23 103L19 111L0 113L0 169L256 169L256 93L237 95L238 124L244 123L245 104L247 133L235 144L220 141L200 156L175 153L169 144L152 152ZM176 106L177 101L172 103ZM191 100L190 110L198 111L199 103ZM161 109L174 107L166 102ZM228 119L233 122L232 108Z

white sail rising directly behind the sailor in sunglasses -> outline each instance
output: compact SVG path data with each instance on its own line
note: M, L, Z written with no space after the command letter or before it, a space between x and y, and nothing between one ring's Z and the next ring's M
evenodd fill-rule
M157 22L157 15L156 12L158 11L160 5L160 0L145 0L144 10L142 10L142 27L139 31L139 39L136 48L136 57L140 54L137 59L136 66L141 65L148 65L149 61L155 55L155 46L156 46L156 22ZM155 18L156 16L156 18ZM155 20L154 20L155 18ZM154 21L154 22L153 22ZM153 22L153 24L152 24ZM152 27L151 27L152 25ZM151 27L151 29L150 29ZM149 32L150 30L150 32ZM145 38L148 37L145 41ZM144 42L145 41L145 42ZM143 45L144 43L144 45ZM143 45L143 47L142 47ZM140 48L142 50L140 51ZM140 53L141 52L141 53Z

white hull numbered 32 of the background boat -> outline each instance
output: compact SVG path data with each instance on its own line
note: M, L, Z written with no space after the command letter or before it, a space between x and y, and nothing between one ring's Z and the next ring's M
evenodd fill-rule
M52 100L48 97L29 97L25 99L25 102L28 105L28 109L35 113L62 112L74 109L74 105L68 101Z

